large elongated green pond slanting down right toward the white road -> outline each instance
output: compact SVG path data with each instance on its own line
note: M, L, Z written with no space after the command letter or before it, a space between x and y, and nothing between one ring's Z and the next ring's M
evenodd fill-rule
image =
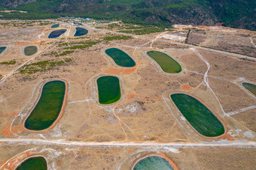
M171 94L170 97L192 127L203 136L216 137L224 134L221 121L199 100L187 94Z

